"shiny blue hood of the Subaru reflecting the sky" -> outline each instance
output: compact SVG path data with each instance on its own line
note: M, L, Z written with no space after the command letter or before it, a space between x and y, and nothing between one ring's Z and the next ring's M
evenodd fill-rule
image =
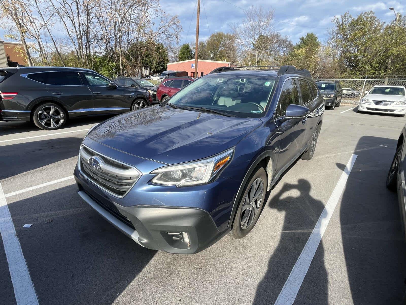
M157 105L118 115L88 136L131 155L175 164L227 150L261 124L259 118L232 118Z

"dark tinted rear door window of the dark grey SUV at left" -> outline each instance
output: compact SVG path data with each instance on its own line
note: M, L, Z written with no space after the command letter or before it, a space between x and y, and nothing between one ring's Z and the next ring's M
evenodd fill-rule
M75 71L32 73L28 74L27 78L47 85L65 85L65 86L82 85L82 81L80 81L79 72Z

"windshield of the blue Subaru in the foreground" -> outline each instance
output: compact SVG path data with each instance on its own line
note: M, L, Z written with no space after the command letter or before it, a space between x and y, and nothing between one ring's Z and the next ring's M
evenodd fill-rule
M192 82L168 103L179 107L204 107L241 118L257 118L265 112L275 83L274 76L212 74Z

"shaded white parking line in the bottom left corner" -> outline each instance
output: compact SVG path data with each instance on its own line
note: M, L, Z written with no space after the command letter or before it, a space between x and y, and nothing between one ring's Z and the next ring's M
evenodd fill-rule
M34 284L32 283L20 242L15 233L6 198L3 195L3 188L0 183L0 234L9 264L15 301L17 305L37 305L39 303Z

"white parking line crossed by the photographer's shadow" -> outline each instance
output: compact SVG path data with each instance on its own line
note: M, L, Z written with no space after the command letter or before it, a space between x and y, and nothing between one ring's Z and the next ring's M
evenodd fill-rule
M344 172L341 174L341 177L337 182L337 185L335 186L330 199L328 199L328 202L319 217L319 220L317 220L317 223L309 237L309 240L307 240L302 253L300 253L299 258L292 269L292 272L290 272L285 285L283 285L281 293L276 299L275 305L288 305L294 303L300 286L302 285L304 277L306 276L311 261L313 260L313 257L316 253L317 247L319 246L319 243L323 237L324 231L326 231L328 222L330 221L335 207L337 206L338 200L340 199L344 187L346 186L348 176L350 175L356 157L357 155L352 155L350 160L348 161Z

